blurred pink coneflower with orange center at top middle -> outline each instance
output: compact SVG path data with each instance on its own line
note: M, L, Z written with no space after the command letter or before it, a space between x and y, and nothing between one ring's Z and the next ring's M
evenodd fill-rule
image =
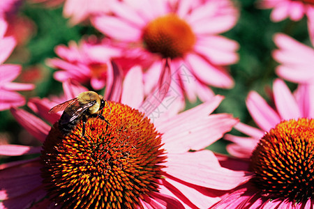
M125 56L153 65L147 79L162 76L158 66L170 58L172 81L189 100L211 98L207 85L234 85L225 66L238 61L239 45L218 35L237 22L232 1L115 1L111 12L92 18L92 24Z

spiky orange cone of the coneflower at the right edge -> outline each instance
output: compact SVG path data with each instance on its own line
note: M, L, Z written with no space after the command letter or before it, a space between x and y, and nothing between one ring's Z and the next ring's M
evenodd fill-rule
M271 198L294 203L314 196L314 120L283 121L267 132L251 157L253 182Z

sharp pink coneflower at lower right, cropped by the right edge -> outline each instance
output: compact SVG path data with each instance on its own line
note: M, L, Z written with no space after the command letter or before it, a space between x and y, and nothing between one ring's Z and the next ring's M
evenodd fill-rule
M248 95L248 110L261 130L237 125L250 136L226 136L234 142L227 150L239 158L218 157L231 170L241 164L240 170L251 171L251 177L212 208L313 208L313 90L303 85L292 94L276 79L276 109L257 93Z

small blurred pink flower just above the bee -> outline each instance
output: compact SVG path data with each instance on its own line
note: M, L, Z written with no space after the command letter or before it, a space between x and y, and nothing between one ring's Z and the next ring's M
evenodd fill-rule
M94 37L82 40L78 45L71 41L68 47L59 45L55 49L61 58L47 60L47 65L57 68L54 78L59 82L74 79L81 84L90 84L95 90L105 86L108 68L112 68L111 60L119 56L120 51L105 42L97 42Z

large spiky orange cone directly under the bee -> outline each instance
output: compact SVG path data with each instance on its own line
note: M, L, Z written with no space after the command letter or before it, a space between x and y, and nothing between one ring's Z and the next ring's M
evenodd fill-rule
M154 124L139 111L109 102L98 116L82 121L68 136L54 124L43 144L43 182L62 208L138 208L158 191L165 153Z

